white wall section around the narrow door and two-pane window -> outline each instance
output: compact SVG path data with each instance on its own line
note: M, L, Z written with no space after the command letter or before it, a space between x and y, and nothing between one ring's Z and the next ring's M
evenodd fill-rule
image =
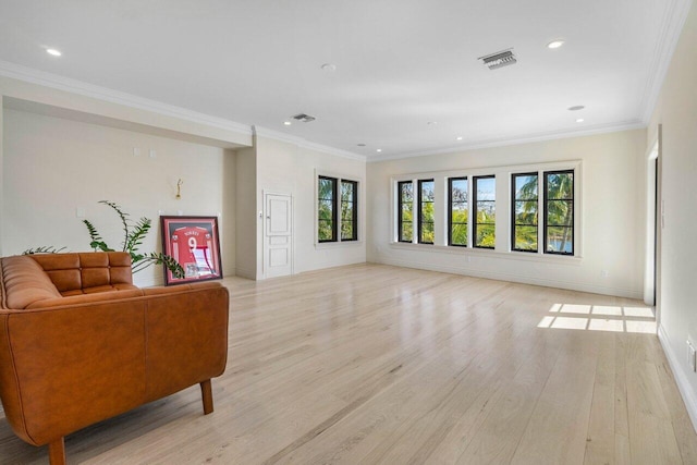
M264 209L264 192L291 194L294 200L294 272L366 261L366 162L314 150L268 137L256 138L257 210ZM359 182L358 237L356 243L315 244L317 172ZM257 241L262 246L262 224L257 219ZM261 253L257 276L262 278Z

